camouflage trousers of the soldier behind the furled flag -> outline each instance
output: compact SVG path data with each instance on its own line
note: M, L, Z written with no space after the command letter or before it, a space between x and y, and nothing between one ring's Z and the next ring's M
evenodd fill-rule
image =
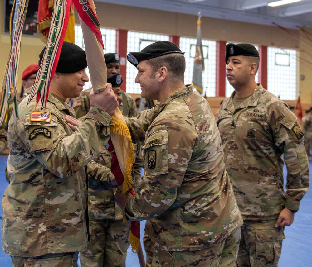
M122 220L90 221L90 239L86 250L80 251L81 267L126 266L129 223Z

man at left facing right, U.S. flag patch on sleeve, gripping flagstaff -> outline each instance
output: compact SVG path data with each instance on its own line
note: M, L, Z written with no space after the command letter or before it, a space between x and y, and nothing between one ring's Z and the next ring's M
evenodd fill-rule
M27 105L27 96L18 105L17 122L9 121L11 183L2 200L1 231L2 249L15 267L77 266L88 240L88 178L93 188L117 185L110 170L93 161L109 140L108 113L118 105L110 85L90 94L79 131L66 124L65 117L75 113L65 100L77 97L89 80L86 67L85 51L64 42L46 108L36 98Z

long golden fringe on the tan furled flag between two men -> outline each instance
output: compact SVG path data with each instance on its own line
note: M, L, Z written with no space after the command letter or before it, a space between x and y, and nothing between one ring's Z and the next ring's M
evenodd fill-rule
M130 136L130 132L127 127L127 124L116 118L112 118L112 120L113 120L114 125L110 127L110 131L115 134L125 136L129 141L129 153L128 153L128 158L127 158L127 163L126 163L124 172L123 170L121 170L124 174L124 182L121 185L121 192L126 193L129 190L129 188L131 188L133 185L131 173L132 173L132 167L134 163L134 160L133 160L134 148L132 145L132 140L131 140L131 136Z

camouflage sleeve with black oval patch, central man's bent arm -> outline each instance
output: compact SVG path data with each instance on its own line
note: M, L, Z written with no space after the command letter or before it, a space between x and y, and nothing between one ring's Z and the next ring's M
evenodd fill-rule
M193 138L181 134L184 131L187 129L181 125L172 125L168 130L154 126L149 131L143 146L144 176L125 207L130 220L152 219L175 202L195 144Z

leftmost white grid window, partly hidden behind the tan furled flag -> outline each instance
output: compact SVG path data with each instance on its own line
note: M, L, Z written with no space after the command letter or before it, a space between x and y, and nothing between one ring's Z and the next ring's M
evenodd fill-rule
M116 52L116 30L100 28L102 33L102 39L104 44L103 53L115 53ZM75 44L85 50L85 44L83 41L82 30L80 25L75 25ZM86 69L86 73L90 79L89 70ZM85 83L84 90L91 88L91 82Z

